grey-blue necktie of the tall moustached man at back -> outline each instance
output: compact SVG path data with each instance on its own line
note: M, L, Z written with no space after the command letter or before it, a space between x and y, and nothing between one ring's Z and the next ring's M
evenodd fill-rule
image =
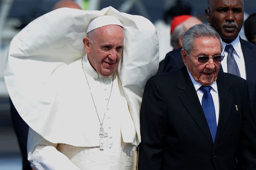
M235 61L234 58L234 48L231 44L227 45L225 47L225 51L227 51L227 72L231 73L233 75L237 75L240 77L240 72L239 72L239 68L237 66L237 62Z

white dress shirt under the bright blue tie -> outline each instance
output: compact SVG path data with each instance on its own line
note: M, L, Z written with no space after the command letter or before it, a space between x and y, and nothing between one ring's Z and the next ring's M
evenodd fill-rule
M187 67L188 70L188 67ZM199 89L202 85L195 81L191 73L188 71L188 74L190 76L190 79L192 80L192 83L195 87L196 94L198 96L198 99L202 105L202 99L203 99L203 92ZM219 121L219 94L218 94L218 88L217 88L217 83L214 81L211 85L211 95L213 97L213 103L214 103L214 108L215 108L215 114L216 114L216 121L217 121L217 126L218 126L218 121Z

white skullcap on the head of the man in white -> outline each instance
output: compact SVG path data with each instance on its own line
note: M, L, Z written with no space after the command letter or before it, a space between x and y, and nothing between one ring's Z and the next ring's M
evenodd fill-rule
M89 33L90 31L98 29L100 27L104 27L106 25L119 25L122 28L124 27L122 25L122 23L116 17L109 16L109 15L103 15L103 16L99 16L99 17L93 19L90 22L86 33Z

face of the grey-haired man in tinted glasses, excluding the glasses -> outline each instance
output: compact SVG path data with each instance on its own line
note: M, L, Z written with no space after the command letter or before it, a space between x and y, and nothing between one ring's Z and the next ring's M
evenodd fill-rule
M188 67L188 70L195 81L203 86L209 86L213 81L216 81L221 62L214 62L213 59L209 59L208 62L200 63L194 56L221 55L221 44L217 38L195 38L194 46L192 51L190 51L190 54L184 49L182 49L181 54L184 64Z

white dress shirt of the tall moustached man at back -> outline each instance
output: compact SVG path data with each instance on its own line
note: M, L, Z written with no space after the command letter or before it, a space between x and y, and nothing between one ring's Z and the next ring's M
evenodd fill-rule
M234 51L233 51L234 59L237 62L237 66L238 66L238 69L239 69L239 72L240 72L240 76L243 79L246 79L245 59L243 57L243 51L242 51L242 48L241 48L241 43L240 43L240 40L239 40L239 36L237 36L237 38L230 44L234 48ZM225 47L227 45L229 45L229 44L222 41L222 46L223 46L223 51L222 52L224 53L225 57L221 62L221 66L222 66L222 69L225 73L227 73L227 51L225 51Z

